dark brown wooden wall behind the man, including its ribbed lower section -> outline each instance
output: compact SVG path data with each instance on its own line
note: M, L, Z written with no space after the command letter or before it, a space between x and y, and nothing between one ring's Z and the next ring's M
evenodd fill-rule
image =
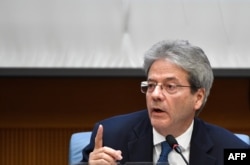
M72 133L145 108L142 77L0 78L0 164L66 165ZM248 78L216 78L200 117L250 135Z

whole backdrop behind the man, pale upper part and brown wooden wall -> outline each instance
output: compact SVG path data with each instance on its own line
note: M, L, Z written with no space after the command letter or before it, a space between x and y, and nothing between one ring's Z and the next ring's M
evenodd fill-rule
M66 165L72 133L145 108L143 55L165 39L207 54L200 117L250 135L250 0L0 0L0 164Z

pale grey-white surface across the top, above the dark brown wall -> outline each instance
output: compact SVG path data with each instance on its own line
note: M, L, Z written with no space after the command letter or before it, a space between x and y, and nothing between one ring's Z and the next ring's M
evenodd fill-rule
M250 68L250 0L0 0L0 67L140 68L164 39Z

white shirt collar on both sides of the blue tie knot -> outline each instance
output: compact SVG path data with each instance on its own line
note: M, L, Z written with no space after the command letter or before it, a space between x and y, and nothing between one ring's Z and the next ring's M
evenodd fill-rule
M193 132L193 126L194 126L194 121L192 121L188 129L183 134L176 137L176 140L179 146L182 148L182 150L188 150L190 147L190 140ZM162 136L155 130L155 128L153 128L153 139L154 139L153 141L154 146L166 140L164 136Z

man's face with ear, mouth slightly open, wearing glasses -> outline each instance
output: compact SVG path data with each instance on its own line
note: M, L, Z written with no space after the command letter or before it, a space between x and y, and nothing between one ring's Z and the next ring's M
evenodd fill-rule
M187 72L167 60L155 61L148 72L148 82L158 83L146 92L146 101L152 126L160 134L179 136L190 126L195 111L204 99L204 90L191 93Z

